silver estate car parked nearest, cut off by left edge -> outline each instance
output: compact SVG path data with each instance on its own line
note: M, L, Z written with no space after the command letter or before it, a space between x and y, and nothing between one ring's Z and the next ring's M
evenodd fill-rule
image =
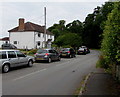
M0 50L0 70L7 73L12 67L33 66L34 57L27 56L19 50Z

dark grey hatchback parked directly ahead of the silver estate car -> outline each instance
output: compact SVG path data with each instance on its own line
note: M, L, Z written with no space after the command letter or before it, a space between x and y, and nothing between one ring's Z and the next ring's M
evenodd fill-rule
M54 49L39 49L35 54L35 61L47 61L50 63L53 60L61 60L60 54Z

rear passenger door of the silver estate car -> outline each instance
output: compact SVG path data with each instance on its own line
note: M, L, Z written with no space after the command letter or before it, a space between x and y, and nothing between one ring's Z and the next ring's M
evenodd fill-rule
M8 60L10 62L11 67L16 67L19 66L19 60L18 57L16 56L15 51L7 51L8 53Z

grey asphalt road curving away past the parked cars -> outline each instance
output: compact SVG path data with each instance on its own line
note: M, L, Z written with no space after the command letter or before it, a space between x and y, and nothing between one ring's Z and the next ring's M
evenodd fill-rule
M73 95L85 75L95 69L99 52L35 63L2 75L3 95Z

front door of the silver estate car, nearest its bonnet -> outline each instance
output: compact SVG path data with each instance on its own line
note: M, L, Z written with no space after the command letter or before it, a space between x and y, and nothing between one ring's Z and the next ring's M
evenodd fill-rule
M19 65L25 65L28 63L28 59L26 57L25 54L23 54L22 52L20 51L16 51L16 54L17 54L17 57L18 57L18 60L19 60Z

